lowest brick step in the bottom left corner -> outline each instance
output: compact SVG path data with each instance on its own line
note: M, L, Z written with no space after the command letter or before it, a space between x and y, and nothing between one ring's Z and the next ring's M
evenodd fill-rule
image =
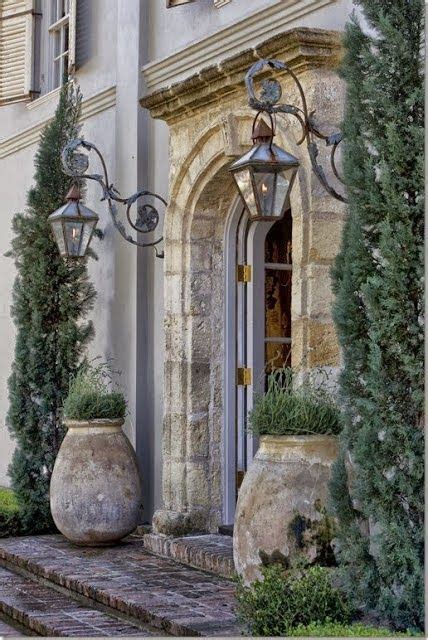
M49 637L155 636L154 630L103 611L0 567L0 611L30 634ZM8 625L9 626L9 625ZM9 627L7 635L13 635ZM1 627L0 627L1 632ZM15 632L15 636L21 635Z

